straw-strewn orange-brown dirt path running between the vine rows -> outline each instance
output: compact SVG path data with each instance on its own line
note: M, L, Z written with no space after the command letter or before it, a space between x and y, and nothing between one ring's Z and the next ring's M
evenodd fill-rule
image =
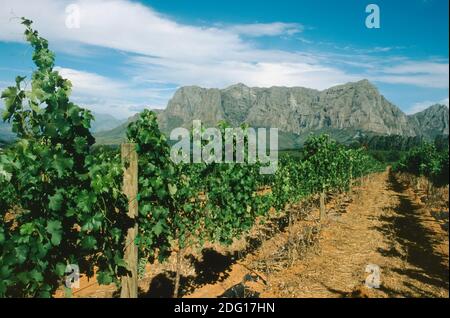
M389 170L355 188L342 212L322 225L315 252L289 268L250 270L282 247L280 233L234 263L226 279L187 297L449 297L448 232ZM379 288L365 287L369 264L380 269Z

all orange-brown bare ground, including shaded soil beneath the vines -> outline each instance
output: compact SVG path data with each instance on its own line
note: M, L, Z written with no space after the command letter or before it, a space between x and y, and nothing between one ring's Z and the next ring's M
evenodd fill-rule
M183 258L184 297L449 297L448 201L431 209L423 193L390 170L374 174L351 197L335 196L328 218L314 206L290 208L295 219L268 227L230 248L209 246ZM442 212L444 208L444 212ZM306 213L307 212L307 213ZM290 225L290 223L292 223ZM171 297L174 258L147 266L141 297ZM368 288L369 264L381 285ZM61 293L58 294L61 296ZM82 279L74 297L113 297L115 287Z

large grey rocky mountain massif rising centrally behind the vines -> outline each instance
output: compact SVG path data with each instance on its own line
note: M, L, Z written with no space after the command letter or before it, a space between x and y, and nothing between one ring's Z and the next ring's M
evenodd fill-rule
M226 89L180 88L159 115L163 131L226 120L233 126L276 127L304 134L351 130L382 135L416 135L416 127L399 108L363 80L317 91L302 87L254 88L243 84Z

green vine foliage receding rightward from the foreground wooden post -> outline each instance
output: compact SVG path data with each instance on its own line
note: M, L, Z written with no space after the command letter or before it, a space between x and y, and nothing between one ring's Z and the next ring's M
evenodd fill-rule
M227 127L219 124L223 138ZM205 240L230 244L270 206L282 209L317 192L345 190L352 178L380 167L364 150L347 149L326 135L309 138L301 160L283 157L268 177L259 174L260 164L175 164L151 111L131 123L127 135L138 145L137 241L141 257L149 261L164 260L175 247L201 247ZM263 187L272 194L260 194Z

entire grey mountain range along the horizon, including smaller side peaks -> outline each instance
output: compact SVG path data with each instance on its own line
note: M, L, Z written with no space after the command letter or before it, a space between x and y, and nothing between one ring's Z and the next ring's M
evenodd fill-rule
M166 109L154 110L161 131L189 128L199 119L206 127L224 120L233 127L279 129L280 148L297 148L310 133L328 133L343 143L361 136L420 136L432 140L449 134L449 110L432 105L406 115L389 102L368 80L347 83L326 90L304 87L248 87L236 84L225 89L185 86L169 100ZM96 115L92 131L98 144L119 144L125 140L126 121ZM3 125L3 126L2 126ZM0 139L5 125L0 124Z

